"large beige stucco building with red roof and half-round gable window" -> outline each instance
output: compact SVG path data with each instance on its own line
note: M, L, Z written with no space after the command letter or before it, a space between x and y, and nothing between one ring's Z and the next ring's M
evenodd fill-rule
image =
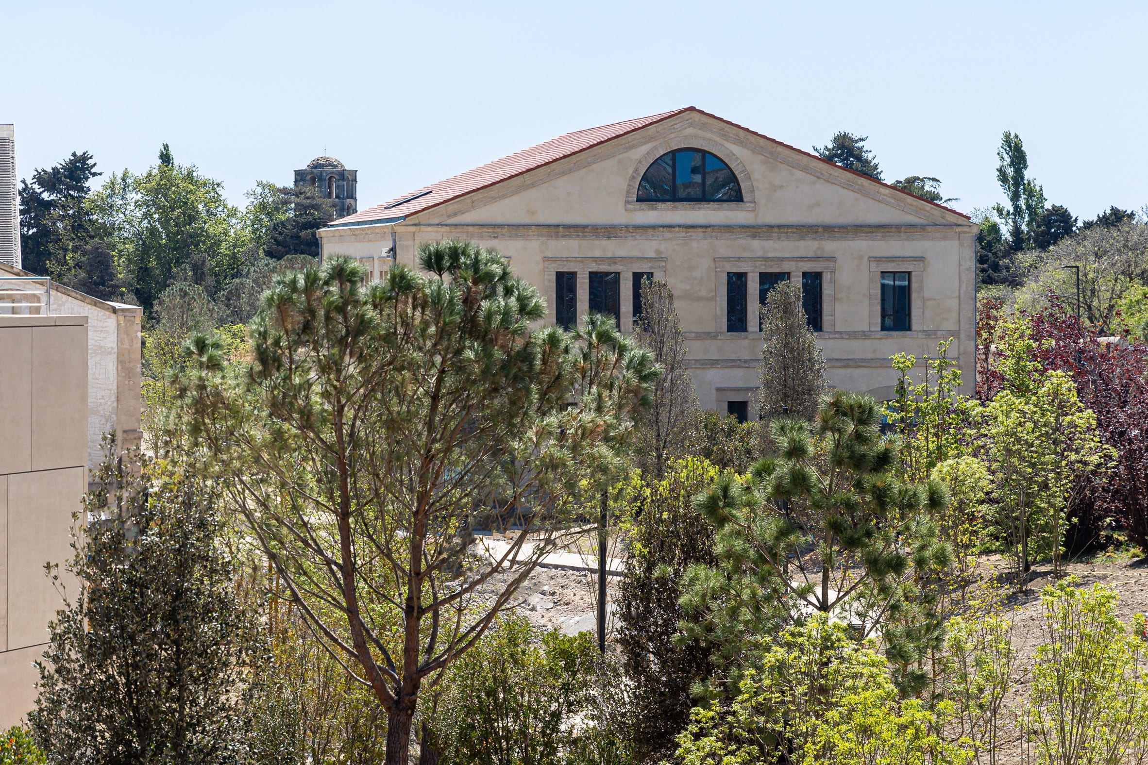
M759 299L802 284L830 383L891 395L889 357L949 357L974 383L968 217L695 108L569 133L342 218L324 257L375 276L391 255L461 237L535 283L548 321L613 313L650 274L674 290L703 406L753 416Z

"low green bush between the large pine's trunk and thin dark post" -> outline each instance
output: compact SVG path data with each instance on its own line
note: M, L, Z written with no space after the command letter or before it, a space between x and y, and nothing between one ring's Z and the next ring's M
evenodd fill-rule
M443 680L436 752L459 765L558 763L596 658L588 632L540 635L525 617L503 617Z

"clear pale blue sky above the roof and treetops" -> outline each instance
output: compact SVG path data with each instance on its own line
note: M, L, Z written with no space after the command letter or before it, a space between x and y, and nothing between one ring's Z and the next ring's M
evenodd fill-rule
M326 153L359 206L560 133L696 106L809 149L869 135L886 180L1001 201L1001 132L1049 202L1148 203L1145 2L0 0L22 175L164 141L243 201ZM8 69L15 67L14 70Z

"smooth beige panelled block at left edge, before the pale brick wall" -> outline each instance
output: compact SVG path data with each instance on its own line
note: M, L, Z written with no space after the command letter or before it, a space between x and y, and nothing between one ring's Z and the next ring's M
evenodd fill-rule
M57 587L76 596L63 563L87 489L87 344L84 315L0 315L0 729L36 701Z

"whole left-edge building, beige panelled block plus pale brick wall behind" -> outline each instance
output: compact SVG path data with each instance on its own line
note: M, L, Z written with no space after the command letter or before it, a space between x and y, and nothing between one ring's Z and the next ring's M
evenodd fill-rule
M103 435L139 444L141 314L0 264L0 729L36 700L57 587L76 594L62 564Z

